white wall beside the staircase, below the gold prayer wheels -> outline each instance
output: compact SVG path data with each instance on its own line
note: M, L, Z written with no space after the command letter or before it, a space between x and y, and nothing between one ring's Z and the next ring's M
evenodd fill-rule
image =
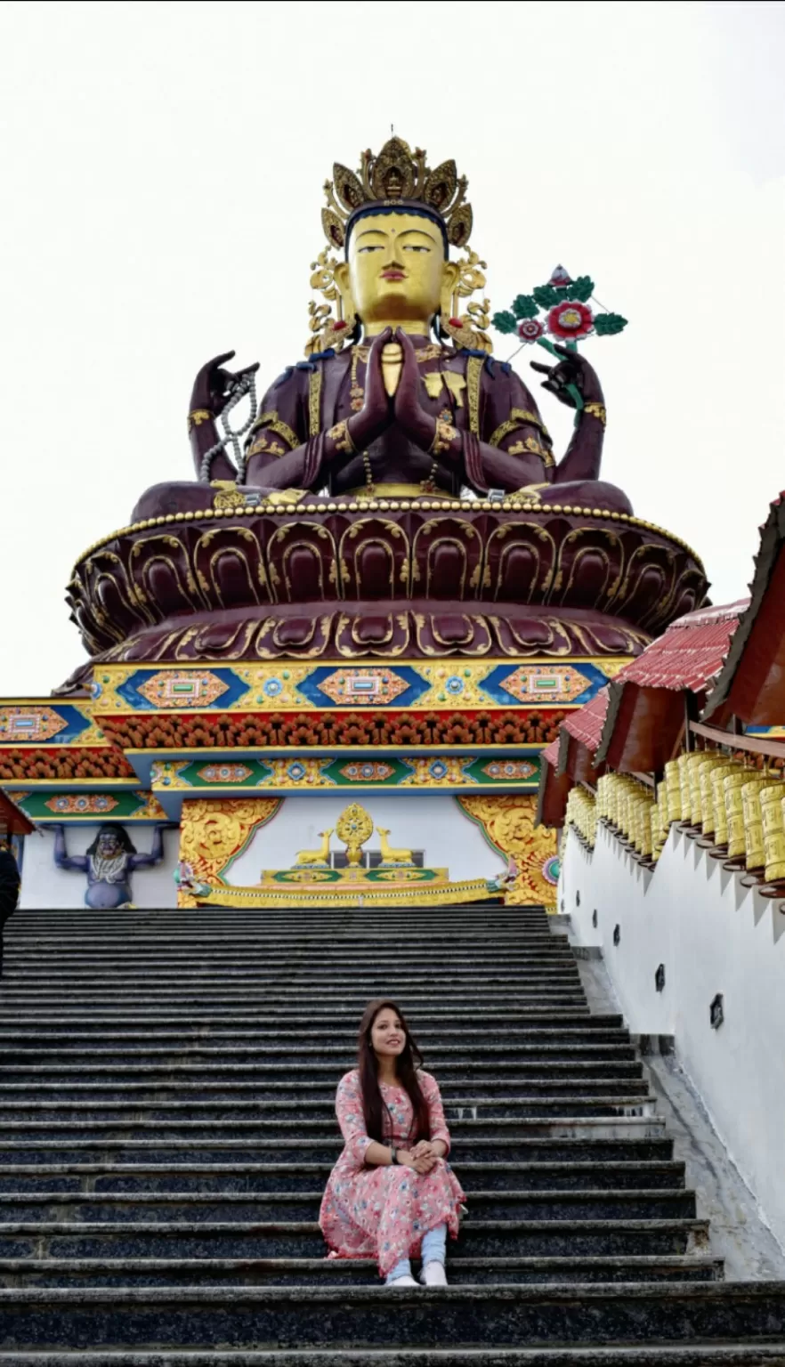
M580 895L580 906L577 897ZM785 915L674 827L646 872L603 826L588 853L568 834L559 909L602 945L629 1028L676 1036L733 1162L785 1245ZM598 927L592 912L598 912ZM621 940L613 943L618 925ZM666 986L655 990L665 964ZM708 1007L722 992L725 1021Z

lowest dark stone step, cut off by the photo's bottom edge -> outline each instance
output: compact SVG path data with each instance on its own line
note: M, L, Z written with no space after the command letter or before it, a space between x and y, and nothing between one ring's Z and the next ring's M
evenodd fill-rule
M599 1348L391 1348L391 1349L231 1349L168 1352L78 1349L16 1352L0 1349L0 1367L767 1367L782 1364L782 1349L756 1338L717 1344L700 1337L685 1348L647 1344Z

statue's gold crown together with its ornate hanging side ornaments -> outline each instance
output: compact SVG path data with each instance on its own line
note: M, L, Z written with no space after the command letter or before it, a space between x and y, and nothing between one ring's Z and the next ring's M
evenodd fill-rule
M444 235L444 249L466 247L472 234L472 205L466 202L466 176L458 176L453 160L443 161L434 171L428 170L427 153L420 148L412 152L402 138L390 138L377 156L362 152L357 172L335 163L332 180L324 182L327 208L321 211L321 227L331 247L346 247L351 220L372 212L373 206L402 209L412 208L428 213L439 223ZM440 328L455 346L491 351L491 340L485 335L490 323L490 301L470 303L460 316L460 301L469 298L485 286L485 262L476 252L466 250L466 257L458 262L461 271L451 295L451 308L442 308ZM305 354L334 349L339 351L350 340L354 320L343 316L343 302L335 282L338 261L328 252L321 252L310 264L310 288L321 293L325 303L309 305L310 338ZM335 305L335 314L332 306Z

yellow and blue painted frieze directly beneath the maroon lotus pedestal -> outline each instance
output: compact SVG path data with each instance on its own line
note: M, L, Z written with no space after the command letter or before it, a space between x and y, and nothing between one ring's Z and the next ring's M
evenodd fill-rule
M96 670L96 718L129 712L313 712L332 709L580 707L626 658L553 660L336 660L205 666L107 664Z

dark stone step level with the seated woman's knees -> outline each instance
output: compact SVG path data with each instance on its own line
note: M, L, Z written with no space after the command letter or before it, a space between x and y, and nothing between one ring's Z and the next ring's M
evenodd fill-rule
M290 1192L3 1192L0 1222L148 1219L178 1223L212 1221L315 1221L324 1188ZM599 1188L585 1191L473 1191L477 1219L693 1219L695 1192L684 1188Z

